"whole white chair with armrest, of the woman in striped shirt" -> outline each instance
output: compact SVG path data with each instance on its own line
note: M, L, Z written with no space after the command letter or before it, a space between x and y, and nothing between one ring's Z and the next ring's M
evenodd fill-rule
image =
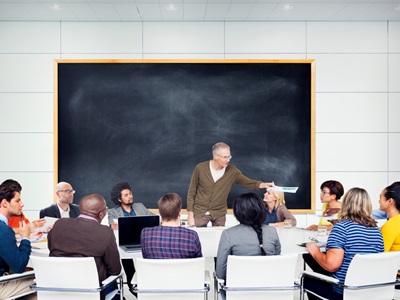
M301 299L304 293L304 278L312 277L327 281L343 288L344 300L393 299L394 285L400 266L400 252L384 252L376 254L356 254L347 270L344 284L337 279L319 273L304 271L301 276ZM313 293L316 295L315 293ZM316 295L321 299L325 299Z

